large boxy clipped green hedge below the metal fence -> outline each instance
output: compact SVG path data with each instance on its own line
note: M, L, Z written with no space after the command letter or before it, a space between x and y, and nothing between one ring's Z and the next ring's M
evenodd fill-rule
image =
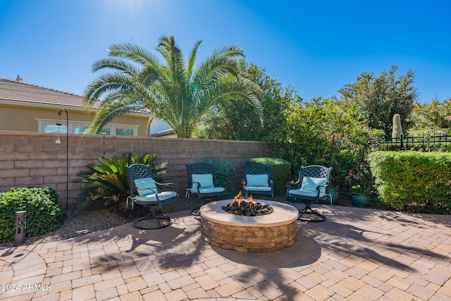
M451 154L373 152L369 154L381 203L389 209L451 213Z

